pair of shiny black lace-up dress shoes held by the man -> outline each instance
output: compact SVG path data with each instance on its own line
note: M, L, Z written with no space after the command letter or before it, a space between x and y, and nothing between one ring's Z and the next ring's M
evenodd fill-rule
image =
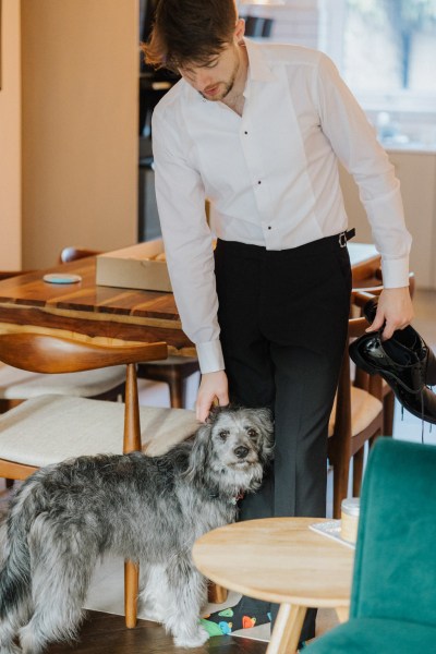
M434 372L434 363L428 366L431 350L420 335L410 329L409 336L413 339L397 337L405 330L396 331L396 338L385 341L378 331L365 334L350 344L350 356L371 375L380 375L410 413L436 424L436 395L426 386ZM434 360L433 352L432 355Z

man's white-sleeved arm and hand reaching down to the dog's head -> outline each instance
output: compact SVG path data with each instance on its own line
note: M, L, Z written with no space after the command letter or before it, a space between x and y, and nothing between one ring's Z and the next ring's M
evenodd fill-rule
M206 221L205 191L198 171L186 159L190 144L183 130L153 118L156 197L168 268L182 328L195 343L202 372L197 417L205 421L211 404L229 402L219 341L213 235Z

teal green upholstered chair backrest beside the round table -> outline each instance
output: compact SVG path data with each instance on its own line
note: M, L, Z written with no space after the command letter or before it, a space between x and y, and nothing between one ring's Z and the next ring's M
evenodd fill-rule
M351 617L436 626L436 447L380 438L363 482Z

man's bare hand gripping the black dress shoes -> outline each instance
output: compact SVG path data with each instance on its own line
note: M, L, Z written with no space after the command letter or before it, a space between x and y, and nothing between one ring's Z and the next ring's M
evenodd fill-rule
M374 323L366 331L383 330L383 340L388 340L396 329L403 329L413 319L413 306L409 287L400 289L384 289L378 299L377 313ZM386 323L386 324L385 324Z

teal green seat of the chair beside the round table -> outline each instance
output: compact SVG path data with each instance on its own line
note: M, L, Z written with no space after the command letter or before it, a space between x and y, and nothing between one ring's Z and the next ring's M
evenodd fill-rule
M436 627L378 618L351 619L307 647L307 654L431 654L435 651Z

